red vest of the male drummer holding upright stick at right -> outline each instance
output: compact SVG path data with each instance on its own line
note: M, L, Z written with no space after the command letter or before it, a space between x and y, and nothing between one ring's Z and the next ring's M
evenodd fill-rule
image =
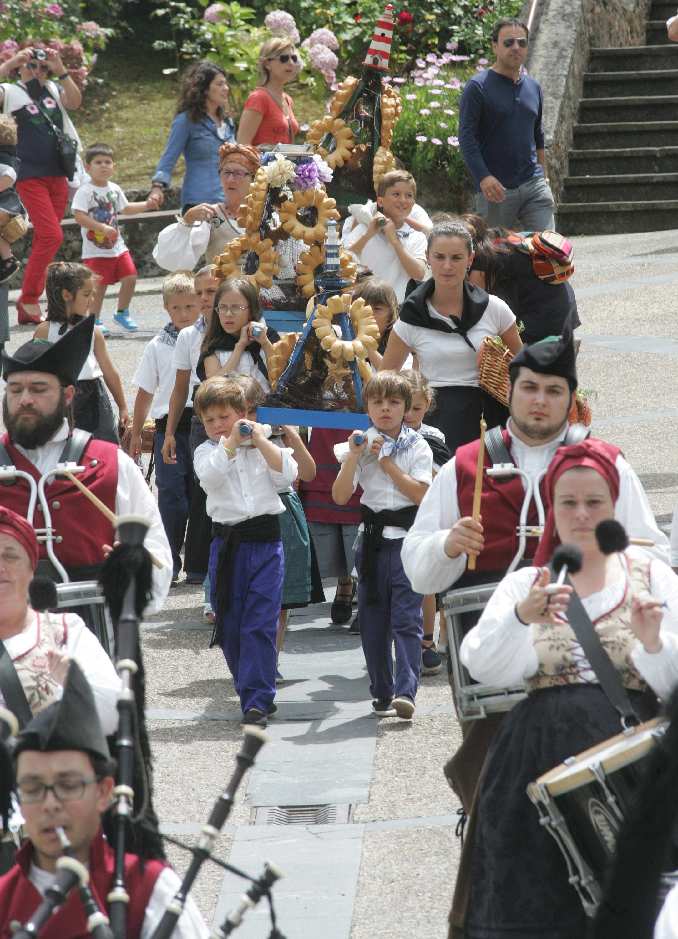
M508 453L511 453L511 437L507 430L503 431L504 441ZM621 453L617 447L603 442L603 446L610 452L614 460ZM461 517L473 515L475 493L475 470L478 465L478 451L480 440L466 443L457 448L457 499L460 506ZM492 461L490 454L485 450L485 466L490 468ZM539 485L539 492L544 503L544 512L549 512L549 501L546 494L546 477ZM504 572L513 561L518 551L519 538L516 529L520 524L520 509L525 498L525 489L520 476L511 476L507 482L491 479L483 473L482 499L480 502L480 515L483 516L485 529L485 547L475 559L475 570ZM533 499L527 513L527 524L537 525L535 500ZM535 557L537 538L528 538L523 558L529 560Z

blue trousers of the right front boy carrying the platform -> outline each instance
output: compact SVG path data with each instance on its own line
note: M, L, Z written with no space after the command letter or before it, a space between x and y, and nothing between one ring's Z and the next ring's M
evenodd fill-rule
M368 587L360 578L363 546L355 552L358 570L360 641L368 666L369 693L376 700L405 695L414 700L419 686L424 636L422 593L414 593L400 561L402 538L384 538L377 552L379 603L368 605ZM391 649L396 646L396 675Z

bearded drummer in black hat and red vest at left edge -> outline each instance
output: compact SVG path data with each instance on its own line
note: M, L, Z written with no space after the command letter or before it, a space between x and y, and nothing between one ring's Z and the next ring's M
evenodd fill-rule
M82 430L71 432L68 408L75 383L92 343L94 316L68 330L51 344L31 340L13 355L3 350L3 420L7 433L0 446L0 465L30 473L38 483L57 463L84 467L79 480L117 515L145 516L151 527L144 545L163 567L153 568L153 600L149 612L162 607L172 580L172 556L158 506L140 469L113 443L92 439ZM26 516L30 490L21 479L3 480L0 505ZM54 553L71 580L98 577L104 546L113 545L113 525L68 479L52 478L45 487L54 531ZM34 522L42 527L36 506ZM44 543L40 560L47 562ZM41 565L44 566L44 565ZM38 573L39 573L38 568Z

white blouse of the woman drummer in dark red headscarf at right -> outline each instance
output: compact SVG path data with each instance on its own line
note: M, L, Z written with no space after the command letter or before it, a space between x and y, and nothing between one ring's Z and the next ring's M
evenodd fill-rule
M512 687L536 674L539 661L534 626L520 623L515 608L530 593L537 575L536 567L523 567L506 575L492 593L477 625L464 637L460 659L477 682ZM582 597L581 603L595 621L622 603L625 589L626 578L619 577L609 587ZM668 700L678 685L678 577L661 561L650 564L650 592L668 604L659 631L662 647L651 654L637 640L631 658L655 694ZM578 642L573 644L571 654L580 662L580 681L597 682Z

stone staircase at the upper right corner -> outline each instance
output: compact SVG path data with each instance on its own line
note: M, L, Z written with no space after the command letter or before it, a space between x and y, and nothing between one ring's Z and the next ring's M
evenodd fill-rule
M653 0L644 46L592 49L569 151L564 235L678 228L676 0Z

